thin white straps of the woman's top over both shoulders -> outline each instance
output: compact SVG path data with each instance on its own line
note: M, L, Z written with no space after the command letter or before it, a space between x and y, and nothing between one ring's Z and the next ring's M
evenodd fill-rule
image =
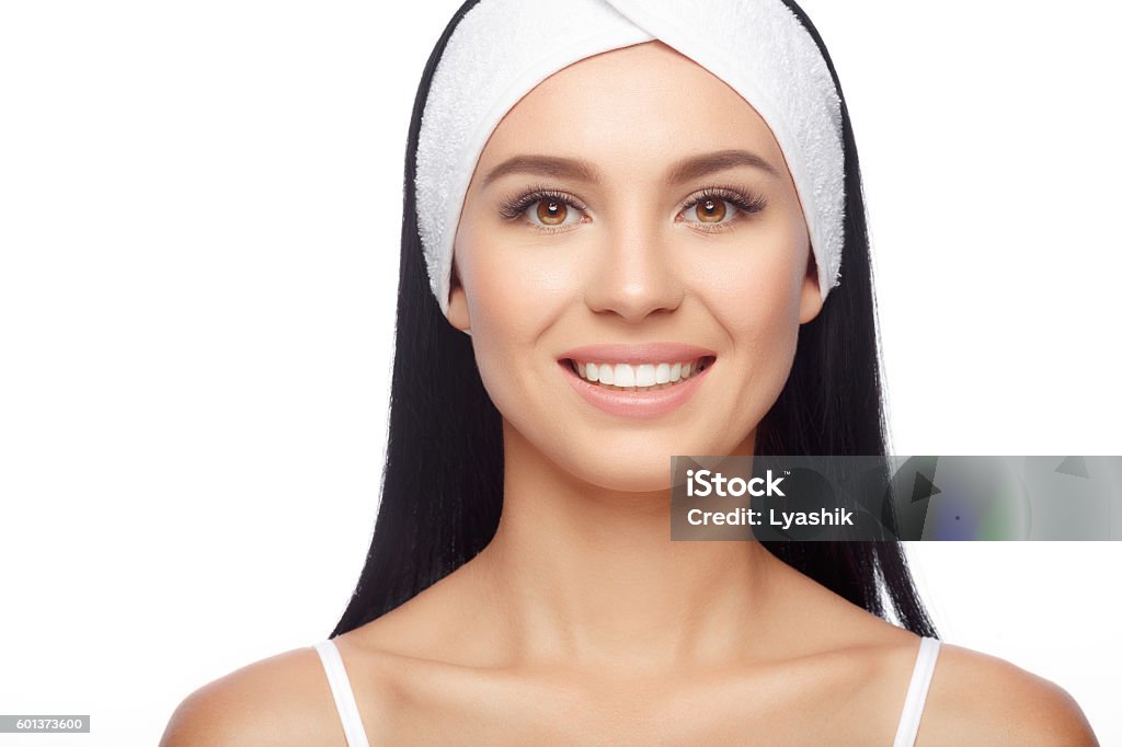
M331 685L331 694L335 699L339 719L343 722L343 734L347 736L348 747L370 747L370 743L366 738L366 729L362 727L362 719L359 718L355 692L351 690L347 670L343 667L343 660L339 655L334 642L330 638L321 640L313 648L320 654L320 662L328 675L328 684ZM931 685L931 675L935 673L935 661L938 656L939 639L920 638L919 654L916 656L916 666L912 670L911 682L908 684L908 695L904 698L904 709L900 713L900 722L896 726L896 736L892 740L892 747L912 747L916 744L919 719L923 714L923 703L927 702L927 690Z

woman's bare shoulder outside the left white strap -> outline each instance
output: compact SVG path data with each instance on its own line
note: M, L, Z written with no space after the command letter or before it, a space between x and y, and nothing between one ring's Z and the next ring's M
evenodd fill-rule
M248 664L175 709L160 747L344 745L319 654L296 648Z

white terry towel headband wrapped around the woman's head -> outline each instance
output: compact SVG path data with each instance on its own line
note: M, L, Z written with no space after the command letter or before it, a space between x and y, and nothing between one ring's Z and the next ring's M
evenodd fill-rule
M723 80L767 123L802 203L822 299L838 284L840 98L818 45L781 0L481 0L436 65L417 141L417 229L445 315L463 197L503 117L558 71L654 39Z

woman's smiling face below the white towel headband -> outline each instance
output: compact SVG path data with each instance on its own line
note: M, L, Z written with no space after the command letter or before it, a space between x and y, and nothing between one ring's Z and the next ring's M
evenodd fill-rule
M668 488L672 454L751 454L821 307L771 130L660 42L571 65L507 113L449 303L508 437L617 490Z

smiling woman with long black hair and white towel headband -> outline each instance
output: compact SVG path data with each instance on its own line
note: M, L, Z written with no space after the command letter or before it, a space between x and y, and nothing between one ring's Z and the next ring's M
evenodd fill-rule
M548 10L587 27L659 4ZM785 83L753 99L661 38L616 40L551 58L496 107L475 87L503 76L472 57L499 38L480 19L522 10L541 29L545 11L457 13L410 133L388 459L358 589L330 642L196 691L163 744L1096 744L1061 689L939 646L896 544L669 540L672 454L885 453L840 86L793 2L735 9L797 24L825 61L835 188L808 188L829 184L813 181L828 147L808 158L782 126ZM478 153L445 154L470 164L462 199L459 172L433 167L457 91L500 120ZM795 113L829 100L798 95Z

